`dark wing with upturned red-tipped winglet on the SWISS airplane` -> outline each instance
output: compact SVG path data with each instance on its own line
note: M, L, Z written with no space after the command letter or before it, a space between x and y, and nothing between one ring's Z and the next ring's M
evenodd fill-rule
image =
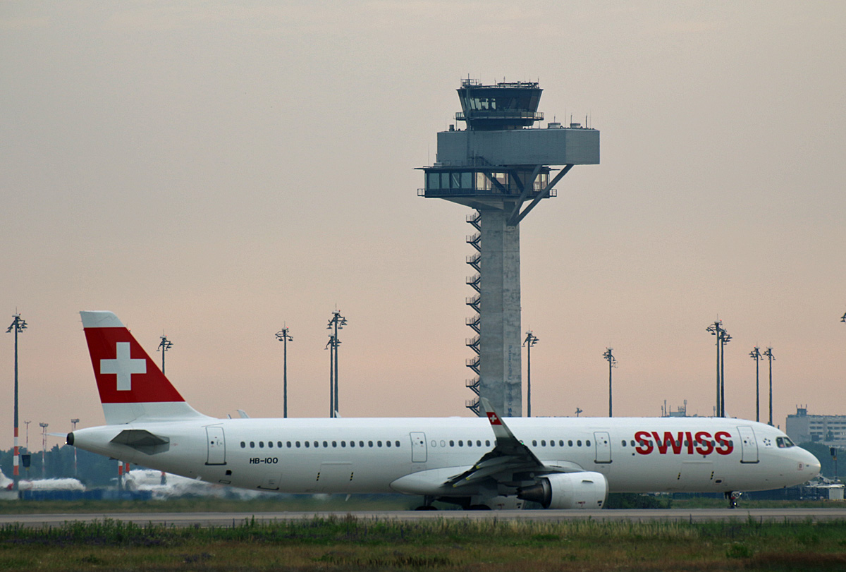
M452 476L445 485L463 487L464 485L475 484L486 478L493 478L500 481L511 481L515 472L534 471L541 473L561 472L561 469L547 467L538 459L531 449L521 443L514 433L508 428L502 417L493 409L491 402L485 398L480 399L482 409L491 422L493 435L497 439L497 445L492 451L486 453L475 465L465 470L460 475Z

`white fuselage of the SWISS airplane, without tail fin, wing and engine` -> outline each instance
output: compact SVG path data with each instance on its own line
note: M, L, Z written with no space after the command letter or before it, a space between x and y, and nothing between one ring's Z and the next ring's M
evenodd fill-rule
M610 492L767 490L802 483L820 469L805 449L780 447L777 439L786 437L783 432L754 421L507 421L544 465L601 473ZM168 447L147 454L111 443L126 429L167 436ZM491 426L482 418L206 418L74 432L75 446L135 465L234 487L303 493L441 494L436 485L469 469L495 444ZM415 482L412 475L420 480ZM392 486L399 479L403 481Z

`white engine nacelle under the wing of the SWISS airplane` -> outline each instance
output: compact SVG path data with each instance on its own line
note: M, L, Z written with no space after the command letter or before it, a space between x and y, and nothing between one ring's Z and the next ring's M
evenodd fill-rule
M602 509L608 498L608 481L601 473L553 473L541 476L517 498L540 503L544 509Z

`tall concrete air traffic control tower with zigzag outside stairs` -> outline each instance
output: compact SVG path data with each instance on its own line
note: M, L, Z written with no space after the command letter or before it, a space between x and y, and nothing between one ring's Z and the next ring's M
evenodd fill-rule
M543 121L537 107L541 88L535 82L482 85L462 80L457 121L466 129L437 134L437 158L418 195L470 206L467 222L475 234L467 242L476 252L467 257L475 289L467 305L475 315L467 325L475 335L467 345L475 357L467 366L475 377L467 387L476 393L467 407L479 415L486 397L501 415L523 415L520 327L519 224L542 200L555 196L555 185L574 165L599 163L599 131L580 124ZM560 166L560 168L556 167Z

